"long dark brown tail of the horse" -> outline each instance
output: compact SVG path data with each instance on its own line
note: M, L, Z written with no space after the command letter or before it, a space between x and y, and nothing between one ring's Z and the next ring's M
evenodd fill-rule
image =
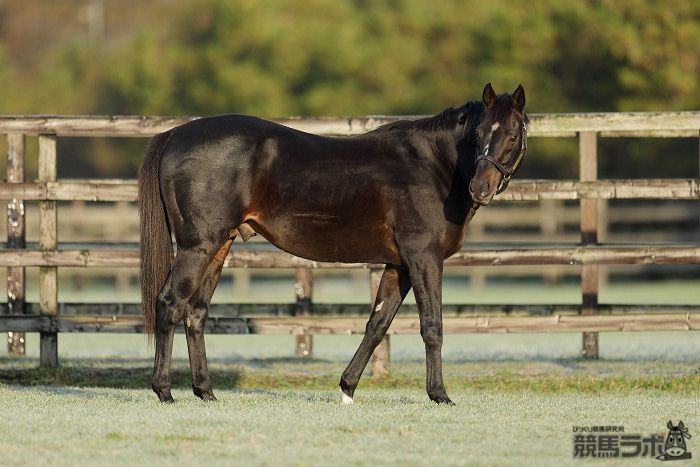
M160 159L170 131L151 139L139 169L139 217L141 229L141 310L150 342L156 327L158 294L173 263L170 224L160 191Z

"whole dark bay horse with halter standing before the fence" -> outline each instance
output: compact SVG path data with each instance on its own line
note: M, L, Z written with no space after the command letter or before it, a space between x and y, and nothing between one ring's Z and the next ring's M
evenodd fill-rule
M253 233L315 261L384 263L364 338L340 379L353 393L404 297L414 290L430 399L442 380L442 269L469 220L503 191L526 153L525 91L355 137L325 137L244 115L155 136L139 172L141 292L155 335L152 388L173 402L173 335L184 319L194 393L214 400L204 325L236 236ZM171 233L177 243L173 257Z

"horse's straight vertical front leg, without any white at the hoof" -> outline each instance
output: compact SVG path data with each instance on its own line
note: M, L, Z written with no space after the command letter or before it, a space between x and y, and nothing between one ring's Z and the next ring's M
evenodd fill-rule
M438 404L454 405L442 380L442 263L438 255L422 254L409 263L409 274L425 344L428 397Z

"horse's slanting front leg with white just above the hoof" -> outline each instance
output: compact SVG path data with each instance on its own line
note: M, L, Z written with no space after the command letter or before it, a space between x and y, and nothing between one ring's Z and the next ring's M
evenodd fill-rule
M408 270L402 266L387 265L374 300L372 314L365 326L365 335L355 355L340 378L340 397L344 404L351 404L372 352L384 338L396 312L411 289Z

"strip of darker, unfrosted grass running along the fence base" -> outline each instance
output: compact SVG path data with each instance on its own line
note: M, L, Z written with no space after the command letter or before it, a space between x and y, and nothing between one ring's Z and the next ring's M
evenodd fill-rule
M552 359L547 365L523 366L519 361L469 361L447 365L448 390L488 391L582 391L602 392L663 390L700 393L697 364L586 361L581 358ZM218 390L244 392L266 390L333 390L344 364L320 359L269 358L250 360L212 359L209 373ZM556 368L563 369L556 370ZM148 390L151 386L150 359L69 359L56 369L39 366L36 358L0 357L0 385L14 387L117 388ZM421 389L425 385L424 363L397 362L388 376L365 375L361 388ZM172 387L191 387L189 362L173 361Z

